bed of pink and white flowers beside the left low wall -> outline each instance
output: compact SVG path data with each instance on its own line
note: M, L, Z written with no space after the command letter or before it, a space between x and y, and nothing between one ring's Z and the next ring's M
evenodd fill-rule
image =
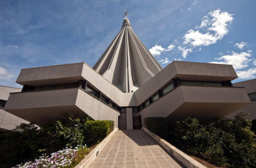
M89 153L87 146L77 146L75 148L66 148L52 153L50 156L42 154L34 162L29 161L25 164L18 164L12 168L40 168L40 167L75 167L85 155Z

